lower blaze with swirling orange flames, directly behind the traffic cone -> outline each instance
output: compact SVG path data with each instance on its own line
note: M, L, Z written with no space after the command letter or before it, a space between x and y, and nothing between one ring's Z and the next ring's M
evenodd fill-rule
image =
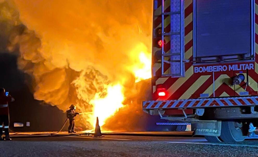
M90 123L91 128L94 128L97 117L99 125L103 126L107 118L124 106L124 86L110 83L107 77L99 75L99 71L93 67L81 71L73 85L79 99L77 106L84 113L81 116Z

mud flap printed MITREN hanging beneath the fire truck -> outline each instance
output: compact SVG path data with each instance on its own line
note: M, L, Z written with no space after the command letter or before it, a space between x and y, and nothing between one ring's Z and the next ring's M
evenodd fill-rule
M221 121L217 122L203 122L192 124L193 136L220 136L221 135Z

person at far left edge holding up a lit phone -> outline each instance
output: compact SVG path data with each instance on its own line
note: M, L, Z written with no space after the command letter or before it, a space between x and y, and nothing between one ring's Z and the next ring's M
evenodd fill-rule
M5 140L11 140L9 136L9 107L8 102L13 102L14 98L11 95L5 93L4 88L0 88L0 140L4 140L3 128L5 134Z

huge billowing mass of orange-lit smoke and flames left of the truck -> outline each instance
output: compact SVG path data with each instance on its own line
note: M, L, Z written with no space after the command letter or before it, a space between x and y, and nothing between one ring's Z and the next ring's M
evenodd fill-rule
M21 20L7 14L15 21L8 50L18 45L35 99L64 111L77 104L79 121L93 128L126 105L131 84L151 77L152 0L14 2Z

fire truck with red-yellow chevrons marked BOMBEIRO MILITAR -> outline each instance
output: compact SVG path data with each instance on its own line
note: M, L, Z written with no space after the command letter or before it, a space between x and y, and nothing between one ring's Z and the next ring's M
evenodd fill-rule
M257 24L255 0L154 0L143 111L191 123L211 142L243 141L258 125Z

